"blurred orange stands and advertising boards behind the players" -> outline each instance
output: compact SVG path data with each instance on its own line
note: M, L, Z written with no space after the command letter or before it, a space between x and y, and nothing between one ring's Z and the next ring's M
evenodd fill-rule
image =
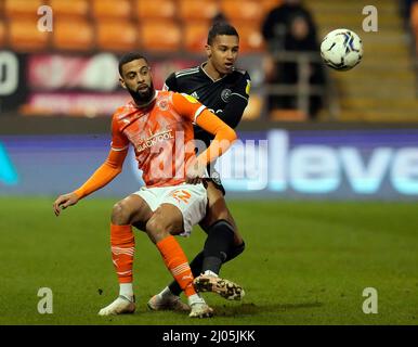
M236 145L224 158L225 184L233 194L416 198L417 2L376 2L378 31L365 33L362 11L367 1L305 1L319 40L344 26L364 41L358 66L348 73L326 68L326 83L317 87L303 74L293 87L266 81L261 25L279 3L0 0L0 192L56 194L71 189L104 157L109 117L127 100L118 86L118 56L129 50L145 52L161 88L168 74L205 59L210 21L221 11L240 33L238 65L252 78L238 130L241 139L256 143L252 152ZM53 10L52 31L37 29L42 4ZM303 52L282 53L306 63L300 59ZM319 57L317 52L305 56ZM274 90L293 90L300 107L267 110L266 98ZM306 113L311 92L325 98L316 120ZM134 165L126 171L129 177L102 194L130 192L138 174Z

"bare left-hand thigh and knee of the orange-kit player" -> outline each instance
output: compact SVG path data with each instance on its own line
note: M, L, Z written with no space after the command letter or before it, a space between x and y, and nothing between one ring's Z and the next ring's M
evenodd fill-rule
M115 204L112 221L123 220L127 223L143 227L152 216L153 211L148 204L141 196L131 194Z

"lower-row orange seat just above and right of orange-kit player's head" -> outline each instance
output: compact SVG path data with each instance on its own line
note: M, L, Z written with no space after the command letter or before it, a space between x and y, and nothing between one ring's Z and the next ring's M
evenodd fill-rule
M182 33L174 21L142 21L140 42L146 51L169 52L181 49Z

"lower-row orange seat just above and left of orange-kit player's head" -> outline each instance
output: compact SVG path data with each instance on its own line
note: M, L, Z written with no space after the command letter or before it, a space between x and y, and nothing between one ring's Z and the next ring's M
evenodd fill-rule
M102 20L96 24L97 48L129 51L138 48L136 26L128 21Z

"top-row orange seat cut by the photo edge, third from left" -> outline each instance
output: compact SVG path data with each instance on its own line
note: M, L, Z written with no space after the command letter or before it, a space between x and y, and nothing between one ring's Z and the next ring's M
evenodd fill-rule
M94 18L131 18L132 9L129 0L91 0Z

